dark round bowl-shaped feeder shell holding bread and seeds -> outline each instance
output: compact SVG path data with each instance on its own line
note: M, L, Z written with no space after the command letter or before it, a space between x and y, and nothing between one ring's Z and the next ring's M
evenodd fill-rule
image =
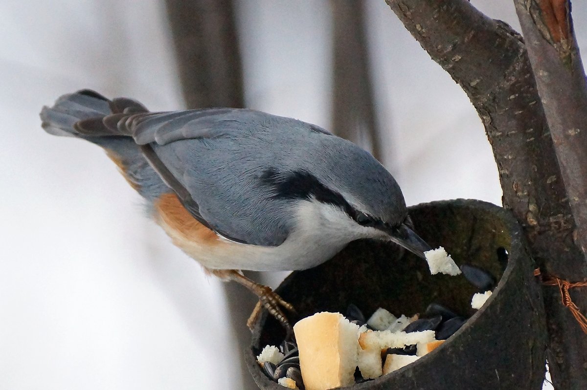
M541 292L521 228L505 209L457 199L410 208L416 232L431 247L443 246L455 262L482 267L497 287L480 310L478 290L462 276L430 275L424 260L393 243L352 242L326 263L292 273L276 289L292 303L292 323L320 311L422 313L430 303L470 317L443 345L391 374L345 389L540 389L544 380L546 330ZM505 253L508 253L506 256ZM264 313L245 359L263 390L283 390L262 372L256 356L279 345L285 332Z

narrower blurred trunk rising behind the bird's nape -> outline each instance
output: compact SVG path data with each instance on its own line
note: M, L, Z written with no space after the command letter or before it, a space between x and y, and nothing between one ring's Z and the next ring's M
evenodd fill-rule
M333 129L381 161L362 0L332 0Z

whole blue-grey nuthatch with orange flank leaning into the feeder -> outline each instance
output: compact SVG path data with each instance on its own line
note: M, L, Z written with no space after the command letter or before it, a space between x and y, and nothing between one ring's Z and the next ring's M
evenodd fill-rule
M291 305L240 270L308 269L362 238L430 249L392 175L313 124L236 108L151 113L91 90L59 97L41 120L104 148L175 245L257 294L286 328Z

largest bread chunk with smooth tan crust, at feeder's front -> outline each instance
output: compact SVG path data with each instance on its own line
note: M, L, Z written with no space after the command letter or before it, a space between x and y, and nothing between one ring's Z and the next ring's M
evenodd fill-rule
M316 313L294 325L299 365L306 390L355 383L359 326L340 313Z

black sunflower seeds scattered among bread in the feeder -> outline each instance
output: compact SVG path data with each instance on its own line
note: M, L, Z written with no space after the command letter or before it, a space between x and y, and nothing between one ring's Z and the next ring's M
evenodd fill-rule
M477 287L479 292L493 290L496 286L495 277L487 270L471 264L460 266L461 272L465 279L473 286ZM355 304L349 304L346 309L345 317L353 324L360 326L365 325L371 330L375 330L367 324L363 312ZM468 318L459 316L453 310L438 303L431 303L421 314L420 318L411 322L402 331L406 333L433 330L436 333L436 340L447 340L451 335L467 322ZM298 347L295 341L285 340L279 345L279 351L284 354L284 358L273 364L272 362L263 362L262 370L265 375L272 381L278 382L281 378L290 378L295 381L296 387L303 390L302 372L299 366ZM416 345L407 345L404 348L387 348L384 352L383 360L389 354L397 355L416 355ZM357 367L355 371L355 383L362 383L372 379L364 379Z

